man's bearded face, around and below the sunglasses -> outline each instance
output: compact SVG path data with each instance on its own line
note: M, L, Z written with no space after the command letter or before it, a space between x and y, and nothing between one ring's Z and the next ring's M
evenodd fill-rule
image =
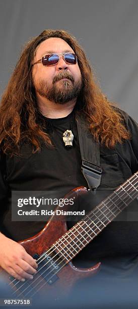
M39 45L34 62L47 54L66 52L74 54L74 50L63 39L51 37ZM78 63L67 64L61 55L59 62L53 66L46 67L41 62L35 64L32 76L36 95L58 104L65 104L76 98L82 88L82 76Z

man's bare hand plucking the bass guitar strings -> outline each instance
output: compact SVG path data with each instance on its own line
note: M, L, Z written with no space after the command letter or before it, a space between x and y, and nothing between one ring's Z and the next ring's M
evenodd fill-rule
M0 233L0 266L18 280L33 279L36 260L16 241Z

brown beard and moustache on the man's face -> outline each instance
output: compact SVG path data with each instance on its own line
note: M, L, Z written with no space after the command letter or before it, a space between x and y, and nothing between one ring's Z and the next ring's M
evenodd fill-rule
M53 78L51 86L46 81L41 80L37 83L35 89L39 95L47 98L49 101L65 104L79 96L82 90L82 79L80 78L78 81L75 81L70 73L60 72Z

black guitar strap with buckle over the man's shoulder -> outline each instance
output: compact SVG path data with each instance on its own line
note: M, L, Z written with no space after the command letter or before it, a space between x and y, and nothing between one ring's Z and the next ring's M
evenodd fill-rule
M95 194L101 182L100 145L88 129L88 122L83 115L77 115L77 130L82 156L82 173L89 189Z

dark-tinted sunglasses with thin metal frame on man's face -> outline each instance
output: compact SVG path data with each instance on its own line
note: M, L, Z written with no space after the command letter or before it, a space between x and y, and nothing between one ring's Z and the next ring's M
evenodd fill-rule
M35 65L36 63L42 62L42 65L45 66L45 67L54 66L60 60L59 55L61 55L63 57L63 60L68 64L76 64L77 63L77 56L75 54L59 53L59 54L45 55L40 60L35 62L33 65Z

